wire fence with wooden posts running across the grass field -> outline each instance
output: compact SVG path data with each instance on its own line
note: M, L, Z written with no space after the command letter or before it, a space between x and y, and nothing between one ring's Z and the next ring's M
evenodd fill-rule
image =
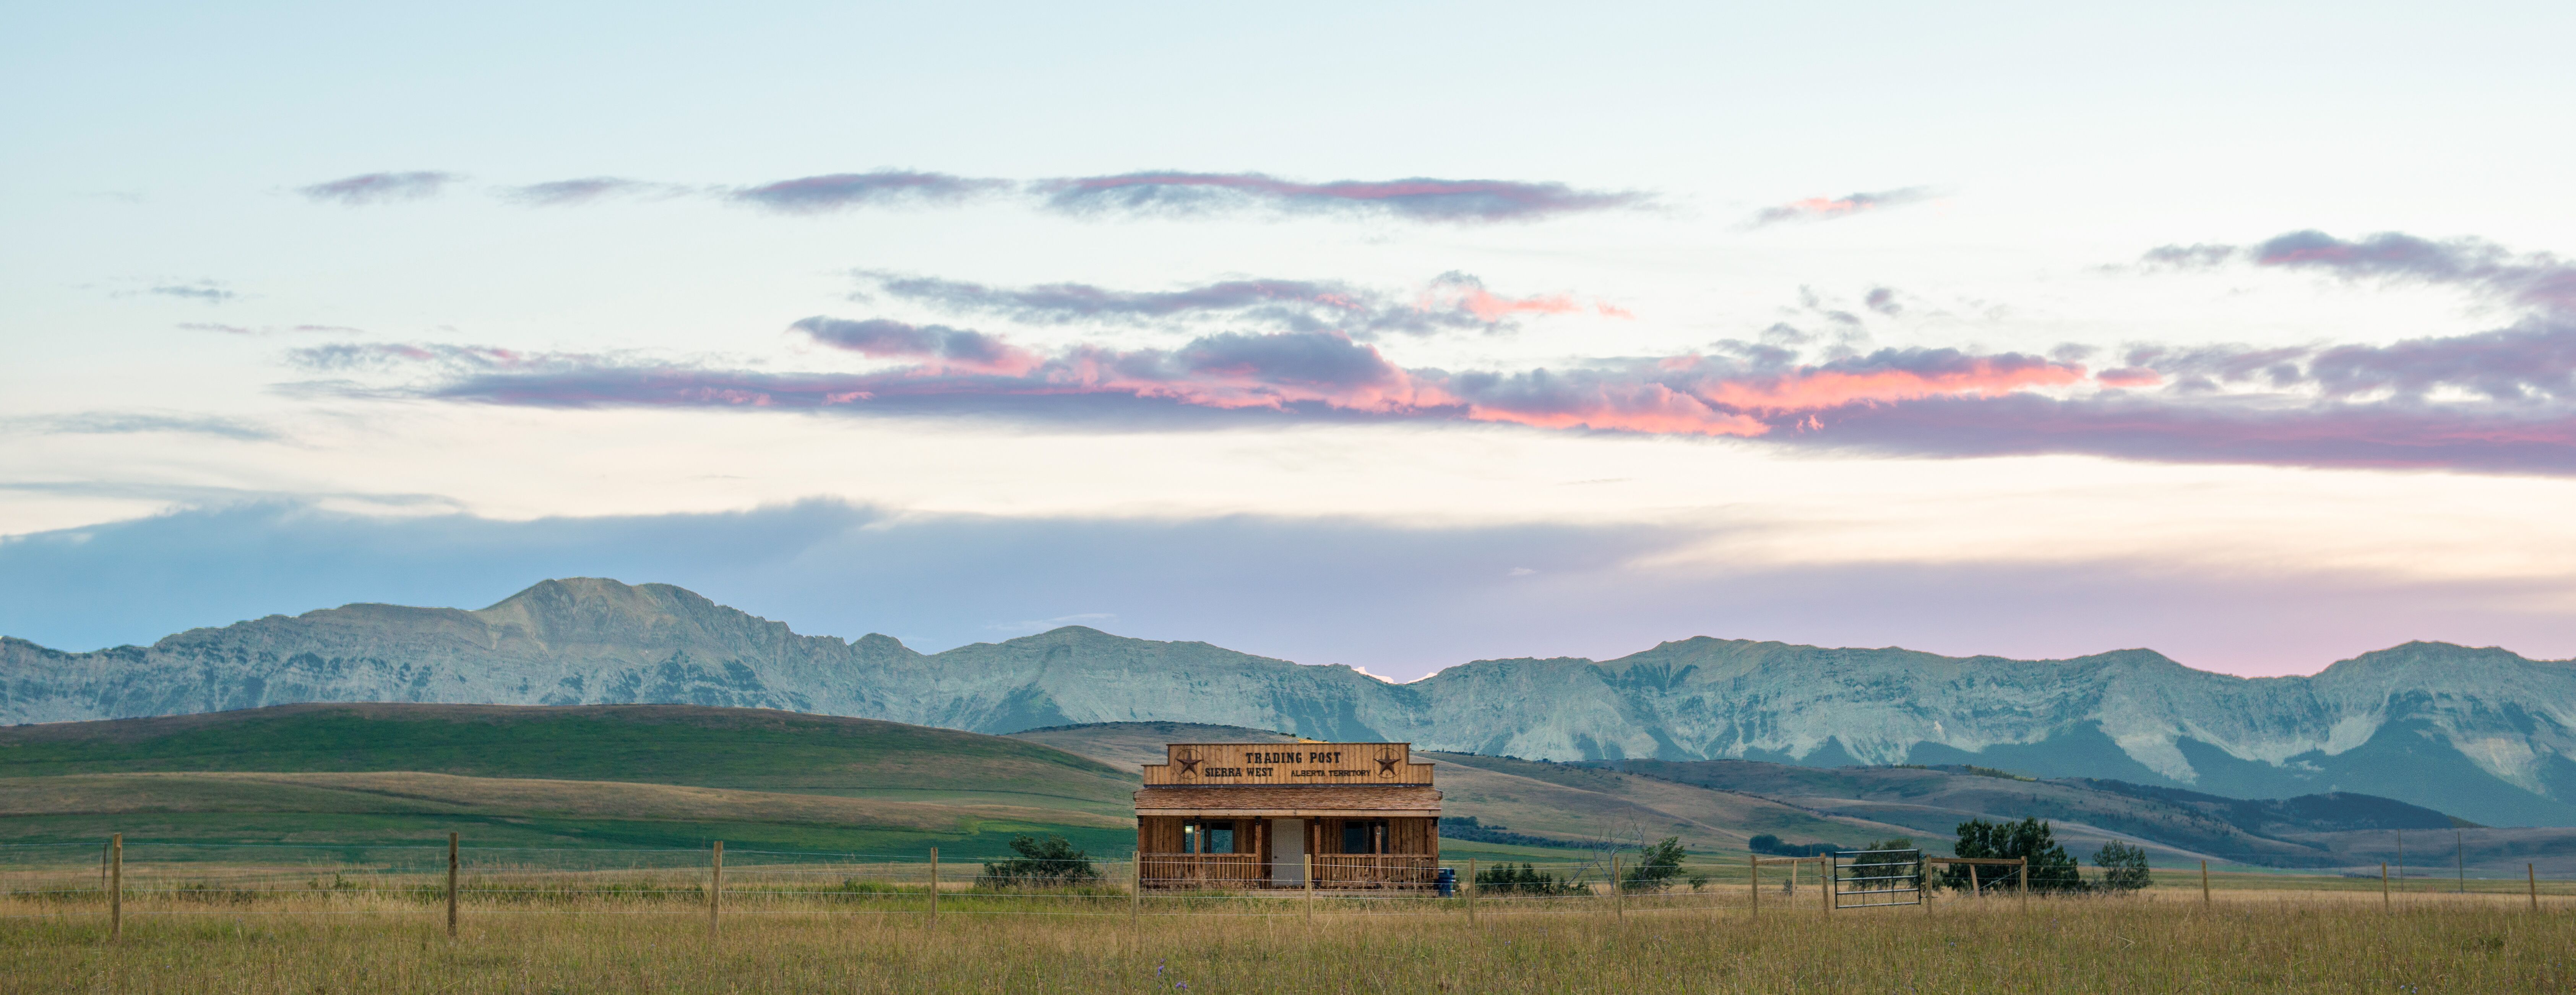
M1314 858L1249 861L1249 871L1190 879L1170 853L1141 858L948 861L889 853L708 848L505 848L332 843L18 843L0 845L0 918L103 915L1090 915L1090 918L1314 918L1314 915L1891 915L1886 905L1945 910L2027 907L2012 861L1968 866L1971 887L1945 887L1919 851L1816 858L1685 858L1641 869L1623 856L1584 861L1425 858L1430 874L1355 879ZM1229 861L1247 864L1247 861ZM1409 866L1409 864L1406 864ZM2334 892L2344 900L2421 905L2527 902L2576 910L2576 882L2424 882L2218 874L2228 892ZM2154 900L2213 900L2208 869L2159 869ZM2411 887L2409 887L2411 884ZM2452 882L2442 882L2452 884ZM2476 887L2470 887L2476 884ZM2195 894L2197 889L2197 894ZM2040 900L2066 900L2038 894Z

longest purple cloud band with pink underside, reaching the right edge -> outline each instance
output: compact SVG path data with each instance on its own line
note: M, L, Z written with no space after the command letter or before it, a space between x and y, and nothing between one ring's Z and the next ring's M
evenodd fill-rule
M1033 348L948 325L822 314L791 330L889 366L762 371L407 343L291 356L374 382L296 389L515 407L1108 418L1144 428L1242 418L1497 423L1909 456L2576 474L2576 330L2548 322L2391 345L2133 348L2099 374L2074 358L1960 348L1806 361L1785 345L1734 340L1710 353L1450 371L1399 366L1337 330L1211 333L1177 348Z

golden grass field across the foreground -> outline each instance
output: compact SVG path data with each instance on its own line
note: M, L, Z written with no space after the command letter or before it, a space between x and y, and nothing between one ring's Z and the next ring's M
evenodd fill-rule
M912 879L917 869L889 869ZM971 869L958 869L971 874ZM198 882L247 884L219 869ZM2197 876L2146 894L1821 913L1814 887L1476 902L997 897L729 871L585 894L580 874L487 874L459 936L428 882L191 892L137 874L121 938L98 894L0 907L5 992L2566 992L2576 897L2398 894L2378 882ZM278 884L278 879L268 879ZM397 882L374 882L397 884ZM2514 884L2506 889L2506 884ZM2334 889L2313 889L2334 887ZM2414 882L2427 889L2432 884ZM806 894L788 894L806 892ZM1144 915L1136 915L1136 913ZM31 913L57 913L28 918ZM1054 915L1025 915L1054 913ZM1620 915L1623 913L1623 915Z

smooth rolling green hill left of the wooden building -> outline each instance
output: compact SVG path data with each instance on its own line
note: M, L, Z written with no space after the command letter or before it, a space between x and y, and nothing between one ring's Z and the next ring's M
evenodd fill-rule
M1133 845L1136 776L1038 742L706 706L299 704L0 729L0 840Z

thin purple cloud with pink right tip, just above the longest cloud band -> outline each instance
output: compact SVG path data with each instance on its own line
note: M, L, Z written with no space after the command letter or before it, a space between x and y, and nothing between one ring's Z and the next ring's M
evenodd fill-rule
M1455 271L1440 273L1417 291L1291 278L1242 278L1175 291L1118 291L1092 284L984 286L871 271L858 276L871 291L891 299L953 314L994 314L1025 325L1167 325L1224 317L1260 320L1298 333L1340 330L1365 340L1378 333L1507 330L1517 314L1574 314L1589 309L1607 317L1636 317L1607 302L1577 299L1574 294L1494 294L1476 276Z

